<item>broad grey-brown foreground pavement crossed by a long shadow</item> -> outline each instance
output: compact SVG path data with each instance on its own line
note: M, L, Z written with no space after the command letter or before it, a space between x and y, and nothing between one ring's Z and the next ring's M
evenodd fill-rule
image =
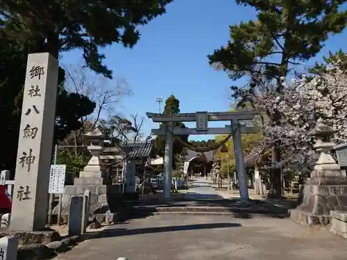
M342 260L346 241L289 219L150 216L87 234L56 260Z

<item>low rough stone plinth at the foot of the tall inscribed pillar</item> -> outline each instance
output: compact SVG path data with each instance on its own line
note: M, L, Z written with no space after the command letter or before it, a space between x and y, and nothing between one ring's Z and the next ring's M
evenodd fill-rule
M51 243L53 241L62 240L60 234L53 229L32 232L1 229L0 237L3 236L15 236L17 238L18 245L28 245L33 243L46 244Z

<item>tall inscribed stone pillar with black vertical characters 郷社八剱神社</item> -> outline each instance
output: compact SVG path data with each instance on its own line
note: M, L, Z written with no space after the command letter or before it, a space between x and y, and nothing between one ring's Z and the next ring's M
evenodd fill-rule
M49 53L28 55L23 92L15 196L10 229L44 229L49 200L54 119L58 84L58 60Z

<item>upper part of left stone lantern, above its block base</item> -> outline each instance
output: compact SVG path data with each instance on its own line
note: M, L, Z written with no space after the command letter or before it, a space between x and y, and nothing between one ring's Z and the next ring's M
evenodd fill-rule
M84 171L80 172L80 177L104 177L105 168L101 164L100 155L105 150L103 141L105 135L99 128L85 134L85 139L90 140L88 151L92 154L92 158L85 166Z

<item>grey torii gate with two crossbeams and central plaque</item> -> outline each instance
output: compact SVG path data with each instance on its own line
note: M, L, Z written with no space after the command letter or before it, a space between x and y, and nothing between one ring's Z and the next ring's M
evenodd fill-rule
M237 175L239 178L239 192L242 200L248 200L248 185L246 171L244 167L244 155L242 151L241 133L255 133L257 128L253 123L243 123L243 121L252 121L254 117L260 114L257 111L238 111L238 112L195 112L179 114L157 114L147 112L146 115L154 123L164 123L165 128L152 129L152 135L166 135L164 155L164 198L170 198L171 173L172 173L172 153L173 135L230 135L234 140L234 152L236 160ZM173 122L194 122L196 128L173 128ZM225 125L224 128L208 128L208 121L230 121L231 125Z

